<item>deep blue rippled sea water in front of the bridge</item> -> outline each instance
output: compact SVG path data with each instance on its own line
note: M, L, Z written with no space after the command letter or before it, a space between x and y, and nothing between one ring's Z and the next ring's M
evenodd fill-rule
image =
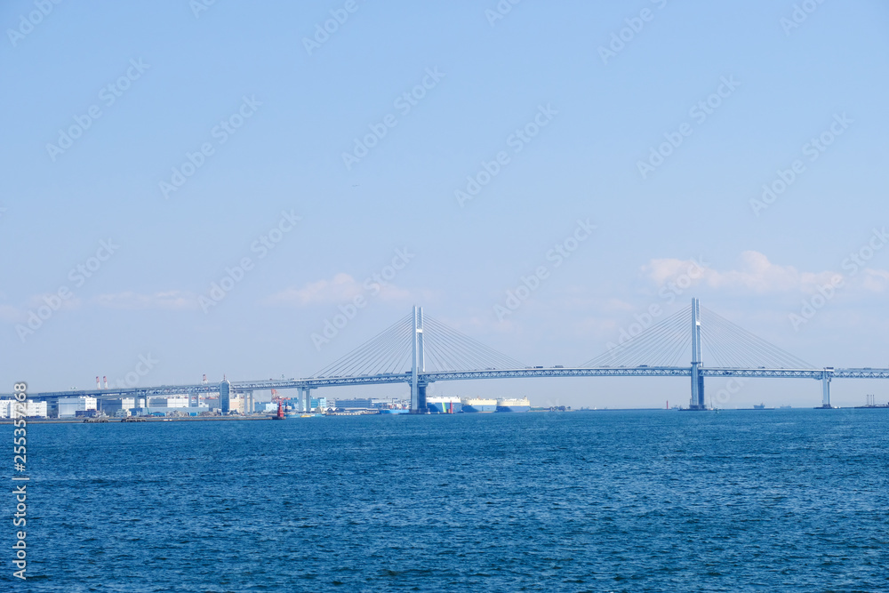
M851 409L32 424L29 578L4 520L0 587L885 591L887 429Z

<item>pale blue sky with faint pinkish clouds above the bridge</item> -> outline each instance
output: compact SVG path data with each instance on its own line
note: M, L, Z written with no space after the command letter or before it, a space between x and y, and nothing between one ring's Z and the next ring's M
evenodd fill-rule
M693 295L813 365L889 366L889 6L804 4L4 3L0 379L87 388L148 355L140 385L306 376L414 304L580 365ZM556 266L578 220L596 228ZM653 379L432 391L688 398ZM365 393L407 389L326 392ZM820 391L751 381L725 406L762 399Z

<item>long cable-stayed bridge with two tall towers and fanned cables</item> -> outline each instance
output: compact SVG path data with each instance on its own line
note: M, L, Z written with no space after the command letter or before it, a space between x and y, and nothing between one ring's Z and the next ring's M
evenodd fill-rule
M706 354L711 365L704 365ZM683 360L690 362L683 364ZM422 308L396 321L371 340L305 378L232 381L252 394L260 389L298 389L308 410L312 389L407 383L411 409L426 410L426 389L435 381L532 377L689 377L692 410L706 409L706 377L759 377L821 381L821 407L829 408L833 379L889 379L889 369L816 368L789 352L702 308L697 299L636 336L612 344L576 367L528 366L453 327L424 317ZM31 394L34 399L91 396L152 397L219 392L216 383L126 389L84 389Z

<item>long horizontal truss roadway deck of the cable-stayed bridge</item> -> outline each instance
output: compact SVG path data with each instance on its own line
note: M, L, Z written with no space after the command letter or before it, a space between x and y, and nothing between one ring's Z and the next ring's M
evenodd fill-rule
M889 379L889 369L877 368L832 368L823 369L745 369L701 367L705 377L759 377L767 379ZM474 371L444 371L418 373L424 384L435 381L469 381L477 379L525 379L532 377L691 377L689 366L633 366L633 367L533 367L524 369L485 369ZM304 379L282 379L268 381L231 381L236 392L261 389L318 389L347 385L379 385L410 383L411 373L388 373L357 375L349 377L308 377ZM108 389L71 389L68 391L45 391L28 394L30 399L47 400L58 397L89 396L101 399L118 397L175 396L183 394L218 393L219 383L196 383L192 385L160 385L157 387L132 387ZM5 394L3 397L12 397Z

